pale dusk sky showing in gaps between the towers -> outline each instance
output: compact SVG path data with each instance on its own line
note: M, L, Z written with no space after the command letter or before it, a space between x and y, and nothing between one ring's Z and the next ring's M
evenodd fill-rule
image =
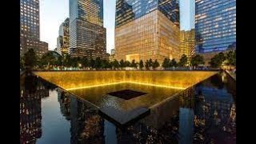
M104 27L106 27L106 51L110 53L114 49L114 19L116 0L104 1ZM189 1L180 0L181 10L181 28L189 30L191 27ZM69 0L40 0L40 39L49 43L49 50L57 47L58 28L66 18L69 17ZM185 15L186 14L186 15Z

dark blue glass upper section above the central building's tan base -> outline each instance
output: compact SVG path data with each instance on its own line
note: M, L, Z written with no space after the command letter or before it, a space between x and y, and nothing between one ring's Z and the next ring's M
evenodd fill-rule
M115 26L125 25L157 9L179 26L178 0L117 0Z

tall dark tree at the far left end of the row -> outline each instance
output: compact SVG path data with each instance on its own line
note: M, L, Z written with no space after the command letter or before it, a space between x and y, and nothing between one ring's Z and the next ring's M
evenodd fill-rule
M37 59L34 49L29 49L26 54L24 54L24 66L26 70L32 70L37 64Z

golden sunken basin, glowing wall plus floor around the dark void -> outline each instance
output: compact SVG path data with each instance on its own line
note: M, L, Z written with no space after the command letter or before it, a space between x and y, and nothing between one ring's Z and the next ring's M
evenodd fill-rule
M118 110L154 108L159 102L217 72L203 71L52 71L34 72L38 76L85 99L94 106L114 106ZM119 90L146 94L124 100L108 95Z

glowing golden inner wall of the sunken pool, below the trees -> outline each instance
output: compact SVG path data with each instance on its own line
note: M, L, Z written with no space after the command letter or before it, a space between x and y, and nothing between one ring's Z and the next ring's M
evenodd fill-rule
M42 71L34 74L65 90L134 82L153 86L186 89L214 71Z

